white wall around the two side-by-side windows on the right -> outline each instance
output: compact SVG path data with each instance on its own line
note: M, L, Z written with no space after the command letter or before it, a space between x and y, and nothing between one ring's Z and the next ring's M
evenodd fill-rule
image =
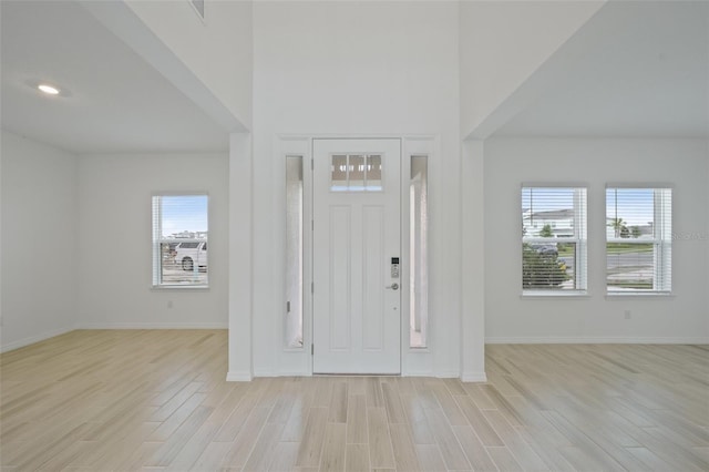
M487 341L708 342L709 274L702 263L709 256L707 166L701 140L487 140ZM588 185L588 297L521 298L523 182ZM672 244L672 297L606 297L606 183L674 185L672 225L680 237ZM625 310L631 319L625 319Z

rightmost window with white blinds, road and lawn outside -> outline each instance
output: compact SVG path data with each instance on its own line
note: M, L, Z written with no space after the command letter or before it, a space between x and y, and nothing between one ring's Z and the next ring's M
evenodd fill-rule
M609 295L671 291L671 188L606 187L606 261Z

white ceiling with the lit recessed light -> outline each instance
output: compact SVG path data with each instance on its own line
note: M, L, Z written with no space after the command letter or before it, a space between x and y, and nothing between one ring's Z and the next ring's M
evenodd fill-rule
M228 150L224 129L80 4L0 8L3 129L78 154Z

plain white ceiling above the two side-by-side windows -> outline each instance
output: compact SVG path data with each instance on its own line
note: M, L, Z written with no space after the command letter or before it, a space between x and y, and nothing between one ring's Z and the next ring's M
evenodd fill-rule
M545 66L494 136L709 136L709 2L609 2Z

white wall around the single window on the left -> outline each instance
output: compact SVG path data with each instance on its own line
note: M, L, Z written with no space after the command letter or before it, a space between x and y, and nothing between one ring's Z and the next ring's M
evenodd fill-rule
M209 194L209 289L152 289L151 195L203 191ZM79 327L227 326L226 154L82 156L79 213Z

